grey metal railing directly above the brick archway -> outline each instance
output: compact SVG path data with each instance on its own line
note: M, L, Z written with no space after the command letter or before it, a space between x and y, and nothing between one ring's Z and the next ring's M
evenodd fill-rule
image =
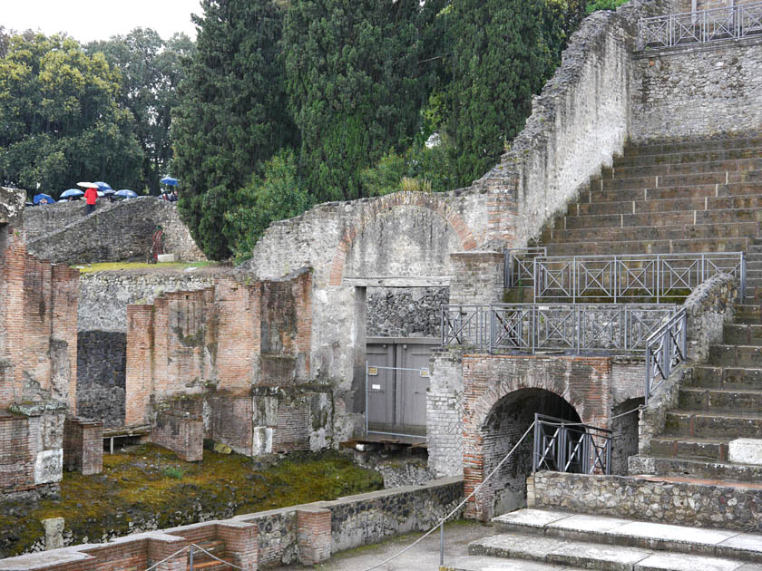
M442 345L485 353L645 353L671 304L444 305Z

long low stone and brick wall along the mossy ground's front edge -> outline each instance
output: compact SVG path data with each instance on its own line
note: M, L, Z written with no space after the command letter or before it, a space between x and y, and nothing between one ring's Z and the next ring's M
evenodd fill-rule
M43 553L8 557L0 559L0 571L30 568L38 571L144 569L190 542L199 544L207 539L222 540L233 563L246 569L288 566L316 555L314 546L306 546L309 548L305 550L302 542L303 547L299 548L299 536L321 539L329 536L329 545L323 545L323 552L329 549L334 554L411 531L427 531L456 508L462 499L461 479L440 479L423 486L387 489L333 501L138 533L104 544L72 545ZM299 511L324 515L298 518ZM456 513L455 518L458 516ZM324 528L327 522L330 524L329 534L325 533ZM142 522L135 522L135 527L142 527ZM81 540L81 537L73 538L74 543ZM155 544L161 544L163 549L156 549ZM171 569L184 569L187 554L183 553L177 563L180 566L172 566Z

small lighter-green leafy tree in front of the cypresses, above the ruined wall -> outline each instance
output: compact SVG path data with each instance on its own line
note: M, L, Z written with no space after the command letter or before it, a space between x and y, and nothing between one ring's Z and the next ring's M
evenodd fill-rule
M265 163L264 176L252 176L239 201L239 207L230 210L225 219L236 259L243 261L271 222L298 216L312 206L298 179L293 151L281 150Z

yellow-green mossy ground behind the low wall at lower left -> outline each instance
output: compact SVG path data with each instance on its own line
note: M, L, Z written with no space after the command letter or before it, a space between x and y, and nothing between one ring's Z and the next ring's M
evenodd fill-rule
M172 527L201 512L230 517L382 488L378 473L336 451L292 453L262 467L211 450L200 462L184 462L145 444L104 454L102 474L64 472L60 498L0 503L0 556L32 547L44 535L45 518L64 518L73 543L82 543L84 537L100 541L112 530L126 535L151 518L158 527Z

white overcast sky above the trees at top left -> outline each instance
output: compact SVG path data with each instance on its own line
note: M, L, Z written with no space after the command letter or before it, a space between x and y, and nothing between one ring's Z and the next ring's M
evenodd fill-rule
M0 0L0 25L46 35L66 32L86 44L153 28L166 40L175 32L196 39L190 14L201 14L200 0Z

